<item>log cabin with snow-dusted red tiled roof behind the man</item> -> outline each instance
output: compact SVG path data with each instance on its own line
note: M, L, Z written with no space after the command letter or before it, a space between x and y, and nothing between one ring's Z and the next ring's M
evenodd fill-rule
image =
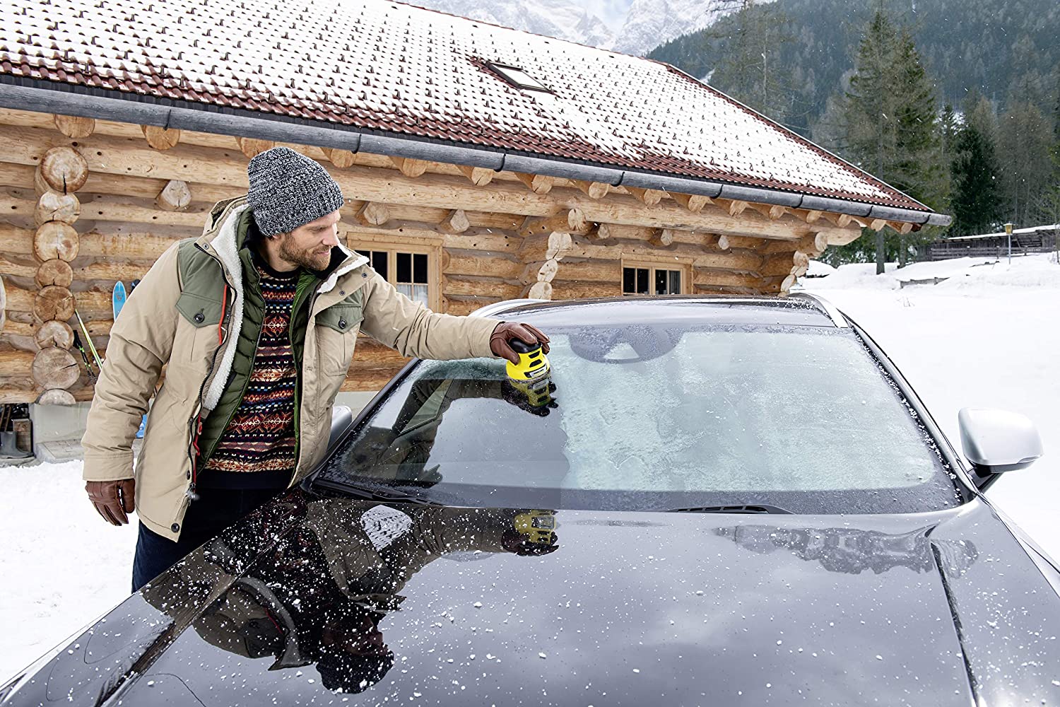
M948 224L677 69L396 2L0 6L0 402L92 395L141 278L275 145L409 297L783 296L862 229ZM363 341L343 390L403 365Z

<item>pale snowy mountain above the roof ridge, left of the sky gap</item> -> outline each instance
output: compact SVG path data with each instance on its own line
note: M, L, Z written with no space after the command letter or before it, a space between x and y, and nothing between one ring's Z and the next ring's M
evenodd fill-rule
M577 0L411 0L409 4L602 49L615 41L603 20Z

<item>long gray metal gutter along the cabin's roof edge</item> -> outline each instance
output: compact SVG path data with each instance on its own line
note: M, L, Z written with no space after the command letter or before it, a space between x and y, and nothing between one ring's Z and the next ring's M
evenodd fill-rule
M831 211L852 216L885 218L911 224L948 226L953 220L944 214L913 209L897 209L705 179L616 170L575 161L522 155L484 146L466 147L429 139L393 137L339 124L323 127L319 121L266 113L255 114L253 111L243 109L219 106L191 108L176 105L178 103L188 106L196 105L187 101L172 101L140 94L117 99L107 95L113 93L114 91L94 87L0 75L0 107L3 108L63 113L141 125L158 125L199 132L253 136L263 140L349 149L353 153L364 151L376 155L463 164L497 172L509 170L543 174L564 179L605 182L613 187L657 189L665 192L701 194L711 198L720 196L761 204L778 204L793 209Z

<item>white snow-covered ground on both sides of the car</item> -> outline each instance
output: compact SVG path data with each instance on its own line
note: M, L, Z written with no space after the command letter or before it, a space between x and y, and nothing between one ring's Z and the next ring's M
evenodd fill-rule
M1046 456L989 496L1060 558L1060 266L1046 257L1011 267L960 259L873 272L843 266L806 288L868 330L955 444L961 407L1005 408L1038 423ZM2 682L127 596L136 530L100 519L80 463L0 469L0 480Z

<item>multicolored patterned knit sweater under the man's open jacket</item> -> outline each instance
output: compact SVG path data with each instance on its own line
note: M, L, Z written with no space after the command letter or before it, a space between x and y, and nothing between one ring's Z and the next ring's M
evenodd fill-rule
M298 372L290 346L290 311L301 270L277 272L254 258L265 316L240 407L206 464L204 485L286 485L297 459L295 387ZM218 473L220 472L220 473ZM255 478L246 478L253 474ZM234 475L244 477L233 479ZM211 478L212 477L212 478Z

